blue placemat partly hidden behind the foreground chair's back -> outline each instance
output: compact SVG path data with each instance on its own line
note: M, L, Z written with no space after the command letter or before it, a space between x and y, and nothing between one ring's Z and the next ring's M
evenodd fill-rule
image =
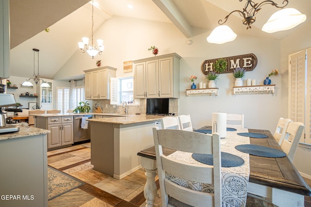
M221 152L222 167L237 167L244 164L244 159L230 153ZM213 165L213 155L193 153L192 158L204 164Z

